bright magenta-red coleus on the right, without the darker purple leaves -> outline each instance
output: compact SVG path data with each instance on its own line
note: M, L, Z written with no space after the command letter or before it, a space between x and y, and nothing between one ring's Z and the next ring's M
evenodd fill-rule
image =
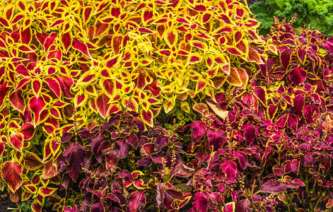
M238 211L329 210L332 38L297 32L276 18L264 39L276 45L279 55L269 54L248 88L216 95L215 106L228 111L226 119L211 120L209 108L197 105L204 119L191 124L189 153L196 157L194 165L211 167L206 176L216 183L202 201L211 208L208 196L218 191L222 175L240 181L228 186L235 189L228 194Z

